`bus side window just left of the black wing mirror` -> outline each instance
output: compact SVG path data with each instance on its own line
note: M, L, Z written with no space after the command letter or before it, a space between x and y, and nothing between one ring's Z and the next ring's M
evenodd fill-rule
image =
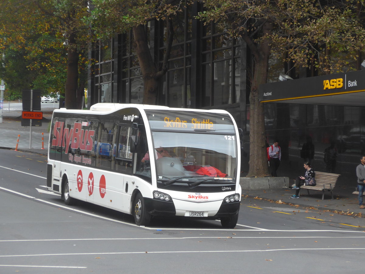
M132 136L132 128L130 126L119 127L119 137L116 144L115 170L132 174L132 153L130 152L130 142Z

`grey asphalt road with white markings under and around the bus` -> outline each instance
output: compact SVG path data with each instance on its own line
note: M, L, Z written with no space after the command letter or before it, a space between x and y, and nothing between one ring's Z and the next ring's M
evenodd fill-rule
M242 198L238 225L154 219L46 190L46 158L0 150L0 273L355 273L364 218Z

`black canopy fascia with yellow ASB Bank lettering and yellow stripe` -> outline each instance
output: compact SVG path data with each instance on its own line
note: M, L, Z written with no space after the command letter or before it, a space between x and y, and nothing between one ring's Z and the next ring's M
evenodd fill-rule
M278 81L260 85L260 101L273 102L365 91L365 71Z

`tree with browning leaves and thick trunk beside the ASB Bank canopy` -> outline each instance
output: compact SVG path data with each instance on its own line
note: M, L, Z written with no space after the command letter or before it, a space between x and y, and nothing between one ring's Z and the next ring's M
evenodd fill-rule
M312 0L204 0L197 18L227 20L229 32L242 37L253 60L250 90L250 169L247 177L269 175L264 104L259 85L268 78L269 58L294 66L313 66L322 73L348 68L346 54L356 58L364 48L360 14L364 1Z

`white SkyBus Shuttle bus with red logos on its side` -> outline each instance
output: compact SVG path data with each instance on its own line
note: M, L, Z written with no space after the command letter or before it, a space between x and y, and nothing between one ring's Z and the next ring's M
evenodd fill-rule
M47 188L132 214L237 224L241 201L237 125L224 110L97 103L54 110Z

